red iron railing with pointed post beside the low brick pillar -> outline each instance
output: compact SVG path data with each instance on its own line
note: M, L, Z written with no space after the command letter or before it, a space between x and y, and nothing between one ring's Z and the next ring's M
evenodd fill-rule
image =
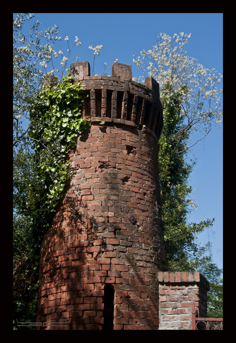
M196 317L195 305L193 301L192 330L223 330L223 318Z

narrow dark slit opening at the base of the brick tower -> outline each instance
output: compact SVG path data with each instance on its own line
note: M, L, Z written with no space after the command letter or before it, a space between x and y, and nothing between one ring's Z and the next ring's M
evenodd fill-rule
M106 285L104 288L103 330L113 330L114 294L114 286Z

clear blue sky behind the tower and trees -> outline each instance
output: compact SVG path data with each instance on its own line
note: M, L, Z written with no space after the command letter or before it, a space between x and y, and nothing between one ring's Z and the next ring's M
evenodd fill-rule
M58 25L59 36L68 36L70 46L78 36L81 45L74 46L71 51L68 68L78 54L79 61L89 61L92 67L94 55L88 47L102 45L100 56L95 57L95 73L104 70L104 62L110 66L114 59L118 59L119 63L130 64L132 76L139 77L141 70L133 64L133 54L151 49L159 33L173 36L184 32L192 34L185 46L187 55L196 58L204 67L215 68L223 74L222 13L35 13L36 20L44 28ZM67 56L65 43L57 42L54 50L61 49ZM109 73L112 73L111 69ZM222 83L219 88L223 89ZM198 209L189 221L215 218L215 237L210 239L214 261L223 268L223 128L212 129L206 139L194 147L193 153L197 165L189 181L193 189L197 188L193 198ZM207 241L207 233L202 233L199 242L204 244ZM217 253L217 249L221 251Z

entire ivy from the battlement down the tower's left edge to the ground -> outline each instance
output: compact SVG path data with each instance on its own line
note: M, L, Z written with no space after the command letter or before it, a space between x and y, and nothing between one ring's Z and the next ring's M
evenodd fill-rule
M72 175L68 154L78 136L90 126L87 118L81 115L83 96L82 85L75 84L72 76L67 75L60 84L43 88L31 104L31 175L24 190L26 213L23 215L30 222L28 237L32 242L26 268L27 274L31 275L31 286L28 288L31 300L27 314L23 316L28 321L35 320L39 249L43 233L50 226L55 208L63 199L66 182ZM15 308L18 313L21 306L21 302L17 301Z

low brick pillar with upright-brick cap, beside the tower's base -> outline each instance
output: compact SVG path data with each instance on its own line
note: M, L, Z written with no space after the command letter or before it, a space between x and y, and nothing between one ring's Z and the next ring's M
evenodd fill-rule
M198 272L159 272L159 330L192 330L193 300L207 316L209 282Z

